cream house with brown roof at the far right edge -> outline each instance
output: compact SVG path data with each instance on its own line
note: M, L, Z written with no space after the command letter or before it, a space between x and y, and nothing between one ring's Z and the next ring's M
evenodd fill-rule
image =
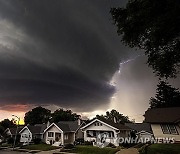
M155 138L169 137L180 142L180 107L149 109L145 122L151 124Z

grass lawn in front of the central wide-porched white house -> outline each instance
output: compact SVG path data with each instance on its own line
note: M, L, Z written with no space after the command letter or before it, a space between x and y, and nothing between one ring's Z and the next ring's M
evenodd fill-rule
M94 146L76 146L70 152L79 154L115 154L119 151L116 148L98 148Z

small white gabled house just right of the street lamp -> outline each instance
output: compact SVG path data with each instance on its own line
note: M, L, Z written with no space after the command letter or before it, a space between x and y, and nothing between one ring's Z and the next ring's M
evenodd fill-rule
M25 126L19 134L20 142L23 144L29 144L33 139L39 138L43 140L43 132L47 128L47 124L36 124L35 126Z

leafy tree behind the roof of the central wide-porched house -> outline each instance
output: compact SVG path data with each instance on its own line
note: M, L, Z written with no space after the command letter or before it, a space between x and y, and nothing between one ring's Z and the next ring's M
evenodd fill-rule
M106 119L109 121L113 121L116 123L130 123L131 121L129 120L128 116L123 116L123 114L119 113L116 110L111 110L110 112L107 111L106 115L96 115L96 118L98 119Z

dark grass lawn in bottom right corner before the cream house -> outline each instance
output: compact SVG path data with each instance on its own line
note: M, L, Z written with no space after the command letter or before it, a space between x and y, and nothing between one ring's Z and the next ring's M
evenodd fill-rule
M180 154L180 144L152 144L147 154Z

